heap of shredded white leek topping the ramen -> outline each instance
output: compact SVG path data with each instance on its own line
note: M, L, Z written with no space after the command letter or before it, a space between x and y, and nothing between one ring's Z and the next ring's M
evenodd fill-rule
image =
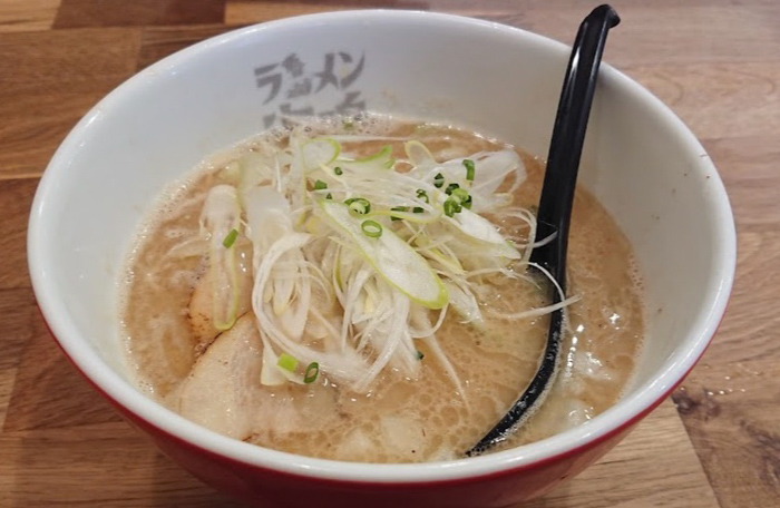
M209 257L223 267L215 287L226 295L215 297L223 302L215 322L235 321L234 250L222 246L235 228L253 245L263 384L304 383L302 369L315 363L323 375L308 381L369 391L386 369L415 378L433 361L465 397L457 365L437 339L450 307L479 330L491 318L534 318L574 301L504 313L481 307L480 295L490 291L485 281L525 279L534 247L534 214L511 207L526 176L515 150L471 154L467 170L465 158L439 162L419 140L407 140L401 158L390 145L376 145L368 156L343 145L398 140L294 128L286 148L261 146L242 156L224 170L235 187L209 193L202 224ZM445 213L448 201L455 203ZM497 217L520 231L507 234ZM183 255L196 248L183 246ZM418 341L430 360L420 358ZM281 368L280 356L298 367Z

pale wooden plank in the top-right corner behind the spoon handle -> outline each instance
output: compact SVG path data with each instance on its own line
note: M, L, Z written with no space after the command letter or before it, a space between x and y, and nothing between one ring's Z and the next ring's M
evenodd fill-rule
M448 2L441 4L449 6ZM532 1L488 16L571 45L579 21L597 3ZM777 61L780 3L739 0L613 0L621 25L610 31L605 61L618 68L681 63ZM459 13L478 14L481 4Z

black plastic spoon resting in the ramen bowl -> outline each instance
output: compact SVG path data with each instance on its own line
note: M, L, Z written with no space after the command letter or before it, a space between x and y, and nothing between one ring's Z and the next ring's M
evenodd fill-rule
M583 152L587 119L591 113L593 92L596 88L598 66L604 53L606 35L620 21L617 12L612 7L604 4L595 8L579 25L564 78L549 154L547 155L547 168L545 169L537 216L536 241L547 238L553 234L555 234L555 238L535 248L530 261L545 267L555 277L564 294L566 292L568 225L572 217L579 157ZM555 287L552 287L550 292L553 303L559 303L562 299ZM544 356L534 379L520 398L509 408L507 414L466 452L467 456L481 453L506 440L519 427L524 417L530 414L530 411L544 400L547 389L555 379L563 328L563 310L553 312Z

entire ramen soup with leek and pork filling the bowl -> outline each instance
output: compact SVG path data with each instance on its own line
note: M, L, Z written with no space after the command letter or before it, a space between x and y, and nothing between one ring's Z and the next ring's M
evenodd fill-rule
M457 128L365 116L263 134L172 187L125 299L139 384L226 436L294 453L460 457L533 378L548 324L529 270L543 168ZM504 446L586 422L643 335L631 248L577 190L569 333Z

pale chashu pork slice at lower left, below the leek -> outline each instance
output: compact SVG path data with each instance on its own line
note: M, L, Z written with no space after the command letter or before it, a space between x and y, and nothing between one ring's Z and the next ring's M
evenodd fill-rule
M247 312L197 359L176 391L178 412L235 439L252 434L263 343Z

